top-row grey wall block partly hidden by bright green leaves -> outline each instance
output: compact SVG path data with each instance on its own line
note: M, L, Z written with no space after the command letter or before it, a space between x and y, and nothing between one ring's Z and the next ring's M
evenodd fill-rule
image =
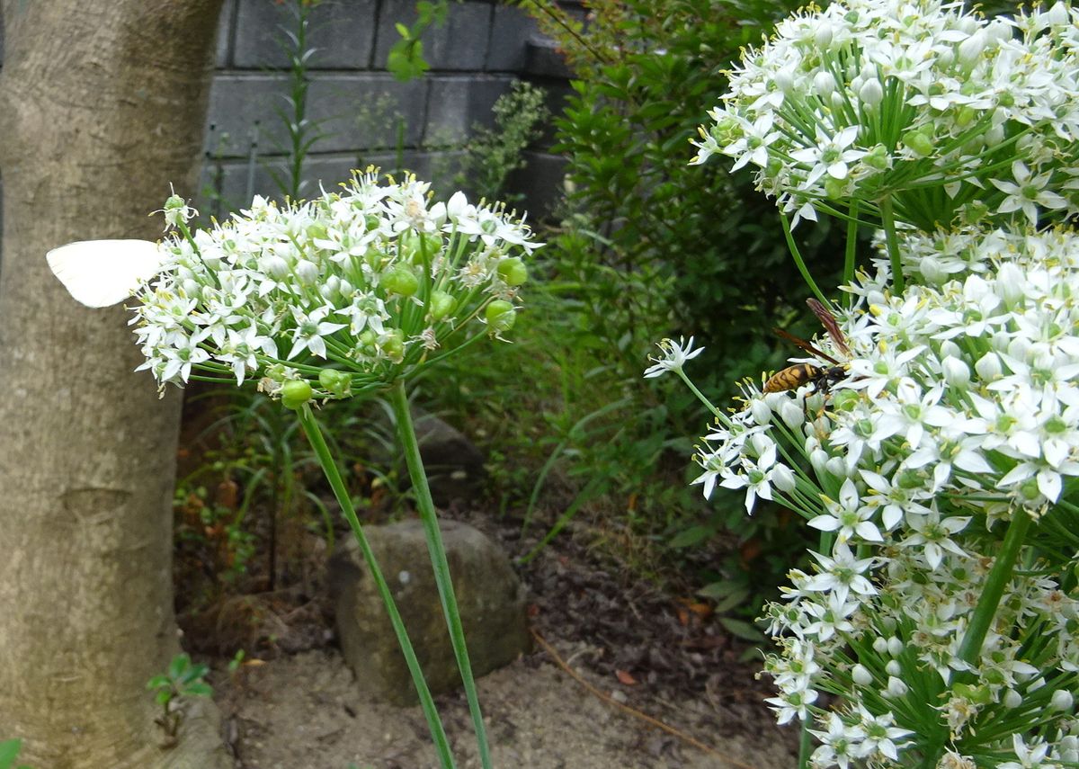
M494 6L484 2L451 2L446 24L421 38L423 55L436 71L481 70ZM382 0L374 44L375 69L384 69L390 49L400 40L395 25L415 22L415 0Z

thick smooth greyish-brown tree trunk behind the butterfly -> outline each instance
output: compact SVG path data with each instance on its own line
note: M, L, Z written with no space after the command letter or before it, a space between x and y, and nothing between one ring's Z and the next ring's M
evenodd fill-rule
M180 399L133 373L127 313L77 305L44 256L152 240L168 184L194 192L220 4L3 0L0 739L42 769L231 766L213 703L162 748L146 690L179 650Z

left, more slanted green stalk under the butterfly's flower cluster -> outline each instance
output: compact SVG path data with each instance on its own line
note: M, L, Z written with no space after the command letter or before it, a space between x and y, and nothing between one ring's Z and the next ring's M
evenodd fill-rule
M401 653L405 655L405 662L408 664L409 673L412 674L412 683L415 685L416 693L420 696L423 715L427 719L427 728L431 729L431 736L435 740L435 748L438 751L442 768L453 769L456 765L453 761L453 754L450 752L450 743L446 738L442 721L438 717L438 709L435 707L435 700L427 688L427 682L423 677L423 671L420 669L420 662L415 658L415 651L412 650L412 643L408 638L405 623L397 611L397 605L394 603L393 593L390 592L390 585L386 584L386 579L382 576L382 569L379 568L379 563L374 558L374 552L371 550L371 545L367 541L367 536L364 534L364 527L359 525L359 518L356 517L356 510L352 505L352 498L349 496L344 481L341 480L337 462L330 456L329 446L326 445L326 439L318 428L318 422L315 420L314 414L311 413L310 404L303 404L303 407L297 412L297 415L300 417L300 426L303 428L308 441L311 442L311 447L315 450L315 456L318 457L318 463L322 466L323 472L326 473L326 480L330 482L333 496L337 497L338 503L341 505L341 512L349 522L349 526L352 527L352 532L356 536L356 541L364 553L367 566L371 569L371 577L379 590L379 595L382 596L382 603L386 606L386 613L390 616L390 622L393 624L394 633L397 635L397 643L400 644Z

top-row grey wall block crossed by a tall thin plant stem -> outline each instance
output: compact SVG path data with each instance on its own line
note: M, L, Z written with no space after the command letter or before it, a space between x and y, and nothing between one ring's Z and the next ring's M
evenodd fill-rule
M309 18L308 42L316 49L308 66L313 69L366 69L374 50L374 0L326 0ZM291 3L238 0L234 66L287 68L282 50L285 30L296 29Z

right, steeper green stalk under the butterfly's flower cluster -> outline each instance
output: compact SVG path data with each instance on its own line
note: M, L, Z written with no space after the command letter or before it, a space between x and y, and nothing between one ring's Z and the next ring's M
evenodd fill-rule
M427 537L427 552L431 554L431 565L435 570L435 582L438 584L438 595L442 601L442 612L446 615L446 625L450 631L450 643L457 660L457 670L461 671L461 680L465 686L468 712L472 714L476 742L479 746L480 764L483 769L491 769L491 752L487 741L487 729L483 726L483 714L479 709L479 697L476 694L472 663L468 661L465 631L461 624L457 599L453 594L450 564L446 558L446 547L442 544L442 534L438 528L438 516L435 513L435 502L431 498L427 473L423 469L423 459L420 457L420 444L415 437L415 428L409 412L404 379L398 379L390 388L390 403L397 422L397 434L400 437L401 447L405 449L405 461L408 463L409 476L412 478L412 491L415 494L416 507L420 509L420 520L423 522L423 530Z

